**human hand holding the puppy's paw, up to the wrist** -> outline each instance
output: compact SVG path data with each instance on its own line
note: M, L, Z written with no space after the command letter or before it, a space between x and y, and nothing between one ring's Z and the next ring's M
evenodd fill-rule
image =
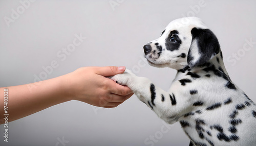
M133 92L109 78L123 73L125 67L81 67L64 75L70 100L78 100L94 106L113 108L129 99Z

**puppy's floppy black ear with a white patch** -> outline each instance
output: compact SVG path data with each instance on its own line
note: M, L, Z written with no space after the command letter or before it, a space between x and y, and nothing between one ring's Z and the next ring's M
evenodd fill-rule
M193 28L192 41L188 50L187 64L190 68L207 62L220 52L220 44L209 29Z

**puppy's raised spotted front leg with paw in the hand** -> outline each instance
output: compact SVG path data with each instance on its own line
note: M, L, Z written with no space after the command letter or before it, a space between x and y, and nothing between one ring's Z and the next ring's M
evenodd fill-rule
M112 80L131 88L140 101L150 107L166 123L173 124L178 121L180 110L177 101L179 99L176 98L175 93L168 93L157 87L151 80L138 77L127 69L123 74L112 77Z

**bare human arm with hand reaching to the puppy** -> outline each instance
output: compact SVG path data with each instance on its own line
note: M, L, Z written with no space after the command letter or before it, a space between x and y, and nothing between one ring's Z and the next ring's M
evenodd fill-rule
M114 66L82 67L53 79L0 88L0 124L4 122L4 89L8 89L8 121L70 100L105 108L116 107L133 94L130 88L105 78L125 70L124 67L119 69Z

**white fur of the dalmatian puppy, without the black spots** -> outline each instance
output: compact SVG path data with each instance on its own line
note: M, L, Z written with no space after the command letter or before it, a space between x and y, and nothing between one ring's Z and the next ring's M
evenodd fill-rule
M191 44L192 37L190 31L194 27L206 29L204 23L196 17L180 18L170 22L162 36L151 43L153 51L156 50L156 46L154 46L156 42L163 46L163 50L159 57L150 58L149 55L146 55L145 58L149 64L156 67L171 67L177 70L188 65L186 58L177 58L177 56L181 53L186 53L187 55L190 45L197 45L196 43ZM164 48L165 38L168 37L169 32L172 30L179 31L179 38L182 39L179 50L173 52ZM183 39L184 37L186 39ZM193 50L193 54L198 54L194 60L197 62L200 54L197 50ZM223 68L224 72L221 73L228 76L220 53L208 62L216 67ZM247 99L244 92L236 85L236 90L225 87L227 80L216 76L214 72L206 72L199 67L190 69L190 72L196 73L200 78L195 79L188 76L187 70L185 73L178 72L167 92L155 86L156 98L153 102L151 98L151 86L153 83L149 79L137 77L130 70L126 69L124 74L116 75L112 77L112 80L130 87L138 98L148 107L153 107L153 111L166 123L173 124L180 120L186 121L189 126L183 125L183 129L194 142L194 145L256 145L256 117L252 115L252 111L256 111L256 105ZM206 74L209 74L210 78L206 77ZM180 82L182 79L189 79L191 83L186 83L184 86ZM191 94L191 90L197 90L198 93ZM175 96L176 104L172 105L170 95L172 98ZM162 101L162 96L164 96L164 101ZM225 104L228 98L231 99L231 102ZM194 103L199 101L203 103L202 106L193 106ZM245 102L249 103L249 105L246 105ZM217 103L221 104L219 108L207 110L207 108L209 109L209 107ZM243 104L245 107L237 109L237 106L240 104ZM233 111L237 111L236 116L230 118ZM188 113L193 115L186 116ZM198 122L199 119L203 120L204 124ZM237 130L236 132L229 130L232 127L232 124L230 124L232 119L241 120L241 123L234 126ZM220 129L215 128L218 125L221 126L222 132L220 132ZM203 138L199 135L200 128L203 129L201 130ZM229 140L220 138L222 133ZM238 137L237 140L232 139L234 135Z

